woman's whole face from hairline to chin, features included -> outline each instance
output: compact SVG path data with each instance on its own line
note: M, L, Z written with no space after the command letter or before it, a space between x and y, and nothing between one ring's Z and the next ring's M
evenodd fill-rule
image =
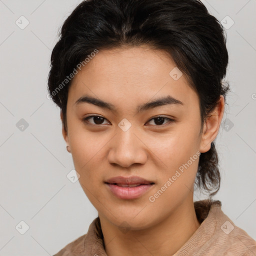
M163 51L99 51L73 78L66 117L63 136L101 218L140 229L192 201L207 151L199 99Z

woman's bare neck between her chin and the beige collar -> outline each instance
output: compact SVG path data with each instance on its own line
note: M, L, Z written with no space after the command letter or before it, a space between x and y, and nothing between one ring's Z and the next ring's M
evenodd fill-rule
M157 225L143 230L123 233L104 217L99 218L108 256L173 255L200 225L191 198Z

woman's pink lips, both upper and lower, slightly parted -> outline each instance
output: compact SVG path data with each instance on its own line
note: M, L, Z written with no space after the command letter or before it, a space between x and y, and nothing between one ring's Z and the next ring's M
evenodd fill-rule
M116 176L109 178L105 181L110 191L120 199L135 199L140 197L146 191L148 191L154 182L141 178L139 176L122 177ZM125 185L135 185L137 186L129 187ZM124 185L124 186L120 186Z

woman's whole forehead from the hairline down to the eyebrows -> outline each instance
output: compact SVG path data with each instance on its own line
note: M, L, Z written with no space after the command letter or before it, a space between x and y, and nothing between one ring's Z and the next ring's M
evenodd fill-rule
M121 99L119 102L127 104L132 100L134 105L134 101L142 103L166 95L184 103L198 100L185 75L173 79L172 70L178 71L175 68L163 50L146 46L99 50L74 76L68 100L74 103L83 94L113 104Z

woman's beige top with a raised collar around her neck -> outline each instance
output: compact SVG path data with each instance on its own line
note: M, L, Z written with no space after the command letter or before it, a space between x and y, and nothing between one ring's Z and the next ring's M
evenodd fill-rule
M173 256L256 256L256 241L223 213L219 200L196 201L194 208L201 224ZM53 256L107 256L102 238L97 217L87 234L68 243Z

